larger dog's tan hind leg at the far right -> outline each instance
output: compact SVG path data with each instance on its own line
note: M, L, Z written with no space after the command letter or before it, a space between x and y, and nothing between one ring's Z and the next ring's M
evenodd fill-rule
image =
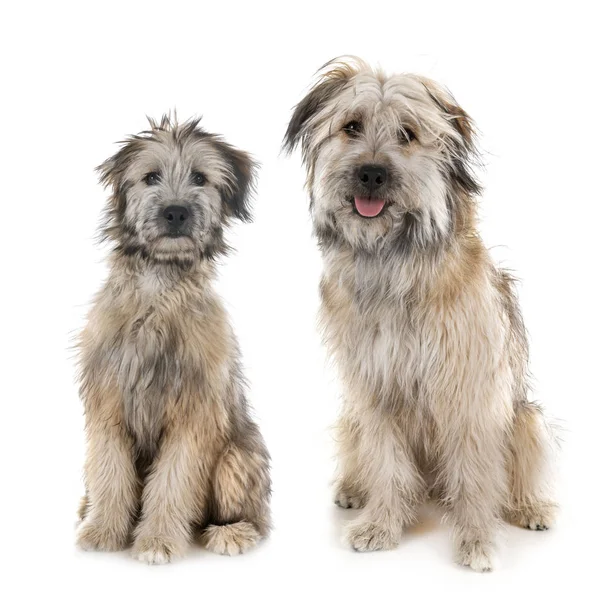
M541 409L519 403L509 458L510 496L504 516L510 523L543 531L552 526L557 505L549 492L551 436Z

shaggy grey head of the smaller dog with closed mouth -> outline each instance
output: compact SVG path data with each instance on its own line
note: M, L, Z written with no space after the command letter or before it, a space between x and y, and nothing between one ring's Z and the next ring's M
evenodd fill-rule
M150 124L99 167L113 191L107 234L125 254L161 263L222 253L229 219L250 217L254 163L197 120Z

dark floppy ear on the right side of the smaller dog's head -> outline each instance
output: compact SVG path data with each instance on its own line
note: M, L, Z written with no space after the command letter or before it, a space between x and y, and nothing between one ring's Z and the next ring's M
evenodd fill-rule
M219 141L218 145L231 170L228 183L221 188L227 214L242 221L251 221L250 201L258 165L245 151L223 141Z

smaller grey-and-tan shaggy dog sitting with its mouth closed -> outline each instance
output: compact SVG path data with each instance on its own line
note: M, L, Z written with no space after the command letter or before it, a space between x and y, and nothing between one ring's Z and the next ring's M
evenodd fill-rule
M269 456L212 289L223 228L249 219L254 164L163 117L99 167L110 274L79 345L88 453L77 541L151 564L194 529L236 554L269 530Z

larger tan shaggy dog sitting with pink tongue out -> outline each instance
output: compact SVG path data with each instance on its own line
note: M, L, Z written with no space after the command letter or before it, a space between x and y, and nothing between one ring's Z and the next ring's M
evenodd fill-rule
M503 517L546 529L555 505L513 281L476 230L472 122L428 79L334 61L295 108L298 144L345 387L336 502L363 509L347 539L395 547L431 493L458 562L489 570Z

